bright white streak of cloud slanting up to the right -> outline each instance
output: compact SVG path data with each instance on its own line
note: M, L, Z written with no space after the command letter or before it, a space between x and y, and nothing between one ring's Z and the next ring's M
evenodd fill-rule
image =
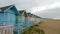
M57 7L60 7L60 2L53 3L53 4L50 4L50 5L46 5L46 6L33 7L33 8L31 8L31 11L32 11L32 13L35 13L37 11L38 12L43 12L44 10L54 9L54 8L57 8Z

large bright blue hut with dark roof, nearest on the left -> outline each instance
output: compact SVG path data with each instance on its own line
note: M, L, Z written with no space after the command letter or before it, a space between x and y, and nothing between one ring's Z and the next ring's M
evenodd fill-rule
M5 7L0 7L0 25L12 25L14 26L17 23L16 16L18 11L15 5L9 5ZM13 28L15 31L15 28Z

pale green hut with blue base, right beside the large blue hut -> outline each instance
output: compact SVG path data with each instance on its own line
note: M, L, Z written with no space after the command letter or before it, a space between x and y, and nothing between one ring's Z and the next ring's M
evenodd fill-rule
M17 15L17 23L18 23L18 34L23 32L23 28L29 28L30 24L28 22L28 15L25 10L20 10L19 15Z

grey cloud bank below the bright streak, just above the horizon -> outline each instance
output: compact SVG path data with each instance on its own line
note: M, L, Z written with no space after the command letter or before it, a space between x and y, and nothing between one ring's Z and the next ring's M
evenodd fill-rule
M37 12L35 14L43 18L60 18L60 8L44 10L41 13Z

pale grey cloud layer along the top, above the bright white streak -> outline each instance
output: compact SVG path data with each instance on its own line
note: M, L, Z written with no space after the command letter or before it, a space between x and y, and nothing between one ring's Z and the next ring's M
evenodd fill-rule
M29 9L38 5L52 3L53 0L0 0L0 6L16 4L18 9Z

